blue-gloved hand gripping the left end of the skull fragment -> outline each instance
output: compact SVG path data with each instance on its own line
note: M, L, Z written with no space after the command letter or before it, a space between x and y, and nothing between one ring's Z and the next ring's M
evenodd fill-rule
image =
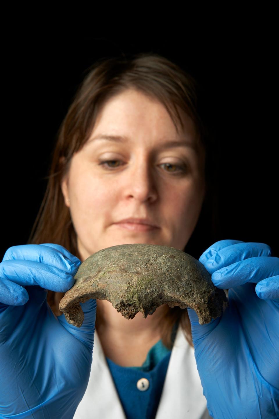
M46 290L66 292L81 261L64 247L10 247L0 263L0 418L70 419L87 388L96 300L80 328L56 317Z

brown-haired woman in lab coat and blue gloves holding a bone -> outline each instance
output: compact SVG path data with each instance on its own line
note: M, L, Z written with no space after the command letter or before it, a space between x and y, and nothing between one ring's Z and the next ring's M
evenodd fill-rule
M229 289L207 325L190 309L126 320L88 300L76 328L58 309L102 248L185 249L209 190L206 140L195 82L174 63L93 66L61 125L33 237L0 264L1 417L279 416L279 259L264 243L222 240L200 256Z

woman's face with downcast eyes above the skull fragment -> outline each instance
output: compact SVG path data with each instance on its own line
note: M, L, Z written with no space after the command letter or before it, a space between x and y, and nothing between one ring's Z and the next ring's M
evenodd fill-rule
M177 134L164 105L132 89L100 110L61 183L82 261L120 244L184 249L205 194L205 153L192 119L180 115Z

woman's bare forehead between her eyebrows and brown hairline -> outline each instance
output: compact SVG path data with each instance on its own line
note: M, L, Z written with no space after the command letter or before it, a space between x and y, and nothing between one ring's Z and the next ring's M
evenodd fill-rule
M166 136L179 137L187 133L195 140L197 131L192 119L178 108L183 127L178 133L166 107L158 99L145 93L127 89L109 98L98 112L93 132L108 129L127 129L129 132L148 131L152 136L164 132ZM121 132L123 134L123 132Z

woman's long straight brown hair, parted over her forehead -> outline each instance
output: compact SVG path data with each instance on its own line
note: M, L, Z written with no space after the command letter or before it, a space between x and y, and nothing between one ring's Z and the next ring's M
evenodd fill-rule
M176 129L177 122L183 127L177 111L179 106L193 119L198 138L206 146L205 126L197 112L197 82L166 57L156 53L106 57L97 60L86 72L59 128L49 176L46 177L46 193L28 239L28 244L60 244L79 259L76 233L60 184L68 171L72 155L88 140L97 114L109 98L127 88L136 88L164 104ZM63 296L64 293L48 291L48 303L56 315L61 314L58 305ZM97 309L96 330L101 322L102 316ZM187 310L167 306L160 327L161 339L168 348L172 346L172 331L178 322L186 339L192 344Z

